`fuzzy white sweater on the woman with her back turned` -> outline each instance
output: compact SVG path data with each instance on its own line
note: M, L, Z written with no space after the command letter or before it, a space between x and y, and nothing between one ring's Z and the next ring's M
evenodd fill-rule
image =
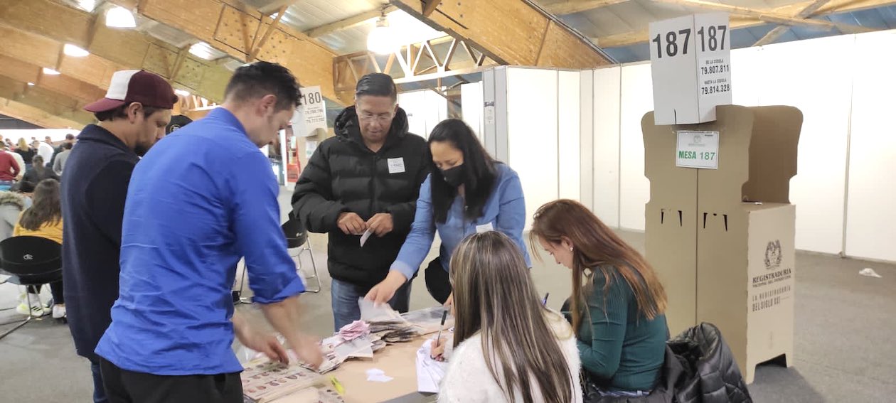
M566 363L569 364L570 373L573 375L573 401L571 403L582 403L582 387L579 384L581 364L573 330L563 316L556 313L550 314L548 322L554 333L559 335L557 344L560 345ZM448 370L440 385L439 403L506 401L504 392L488 371L485 352L482 350L482 337L479 333L464 340L460 346L455 348L449 362ZM498 368L500 368L500 364L498 364ZM535 379L531 379L530 382L535 384ZM533 388L532 393L536 402L543 401L537 386ZM514 396L519 398L519 390L514 391ZM522 400L514 399L514 401Z

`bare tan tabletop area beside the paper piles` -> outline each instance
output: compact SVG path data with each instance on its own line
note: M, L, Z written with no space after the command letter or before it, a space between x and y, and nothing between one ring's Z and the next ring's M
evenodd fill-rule
M352 358L340 364L339 368L324 373L342 384L345 393L342 398L346 403L424 403L433 402L435 394L417 391L417 350L423 345L427 336L420 336L407 343L396 343L377 351L373 358ZM383 370L386 376L392 377L389 382L367 381L367 370L376 368ZM274 400L272 403L304 403L306 398L300 394L289 395Z

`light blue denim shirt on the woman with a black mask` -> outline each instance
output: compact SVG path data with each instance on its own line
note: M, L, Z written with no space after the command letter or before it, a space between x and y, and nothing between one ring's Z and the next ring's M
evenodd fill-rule
M435 232L438 231L439 238L442 239L439 256L442 258L442 267L448 271L454 248L463 238L487 230L501 231L504 235L510 236L513 242L520 246L526 264L531 267L528 249L522 241L522 230L526 227L526 201L522 195L520 176L517 176L511 167L501 163L495 164L495 170L497 171L495 191L488 196L482 217L473 220L464 218L463 198L456 196L444 223L437 223L433 218L430 190L433 176L427 176L426 181L420 186L420 197L417 200L417 211L414 223L410 227L410 234L401 245L401 252L398 253L390 269L398 270L405 278L410 279L426 259L429 247L435 239Z

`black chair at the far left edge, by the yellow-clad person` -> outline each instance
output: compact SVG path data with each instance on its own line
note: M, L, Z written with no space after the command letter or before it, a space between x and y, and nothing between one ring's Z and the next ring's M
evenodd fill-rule
M39 236L13 236L0 242L0 271L12 276L8 282L20 286L39 286L62 281L62 245ZM30 306L30 293L25 293ZM43 301L39 304L43 305ZM30 310L28 317L13 329L0 334L0 339L18 330L36 316ZM3 324L12 324L3 323Z

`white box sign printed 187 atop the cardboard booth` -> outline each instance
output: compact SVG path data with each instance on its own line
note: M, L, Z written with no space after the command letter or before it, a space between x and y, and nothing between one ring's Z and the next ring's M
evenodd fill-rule
M698 124L731 103L727 13L688 15L650 24L655 124Z

